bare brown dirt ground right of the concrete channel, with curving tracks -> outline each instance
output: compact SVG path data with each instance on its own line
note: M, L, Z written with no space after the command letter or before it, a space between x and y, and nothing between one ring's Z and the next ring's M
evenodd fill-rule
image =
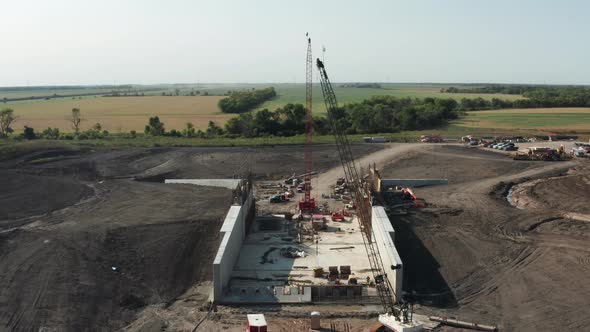
M416 189L427 208L392 218L404 290L422 304L418 310L506 331L590 326L590 222L564 217L588 211L587 164L431 146L385 166L384 177L449 179L448 186ZM510 184L535 179L536 207L511 206Z

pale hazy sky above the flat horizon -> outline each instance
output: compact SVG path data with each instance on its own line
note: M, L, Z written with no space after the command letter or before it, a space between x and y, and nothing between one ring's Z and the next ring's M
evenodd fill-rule
M0 86L590 84L590 1L2 0Z

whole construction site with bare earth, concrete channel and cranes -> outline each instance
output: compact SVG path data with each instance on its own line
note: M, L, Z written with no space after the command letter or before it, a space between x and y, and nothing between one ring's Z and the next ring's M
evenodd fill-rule
M471 139L351 144L307 42L303 146L1 160L0 329L589 326L588 159ZM314 72L335 144L313 145Z

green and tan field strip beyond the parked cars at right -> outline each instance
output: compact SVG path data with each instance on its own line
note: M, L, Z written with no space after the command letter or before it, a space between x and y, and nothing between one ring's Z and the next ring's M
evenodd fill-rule
M499 129L590 131L590 108L537 108L468 112L457 126Z

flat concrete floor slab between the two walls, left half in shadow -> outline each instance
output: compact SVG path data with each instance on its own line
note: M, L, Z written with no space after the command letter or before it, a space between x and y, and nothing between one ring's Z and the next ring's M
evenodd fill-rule
M361 281L371 276L356 220L328 221L326 231L304 236L301 244L295 241L295 222L275 219L276 230L261 229L261 222L264 219L256 220L244 241L232 273L232 286L282 286L287 281L301 285L334 284L326 277L314 277L316 267L327 273L330 266L346 265ZM281 249L300 250L305 252L305 257L286 258L281 255Z

